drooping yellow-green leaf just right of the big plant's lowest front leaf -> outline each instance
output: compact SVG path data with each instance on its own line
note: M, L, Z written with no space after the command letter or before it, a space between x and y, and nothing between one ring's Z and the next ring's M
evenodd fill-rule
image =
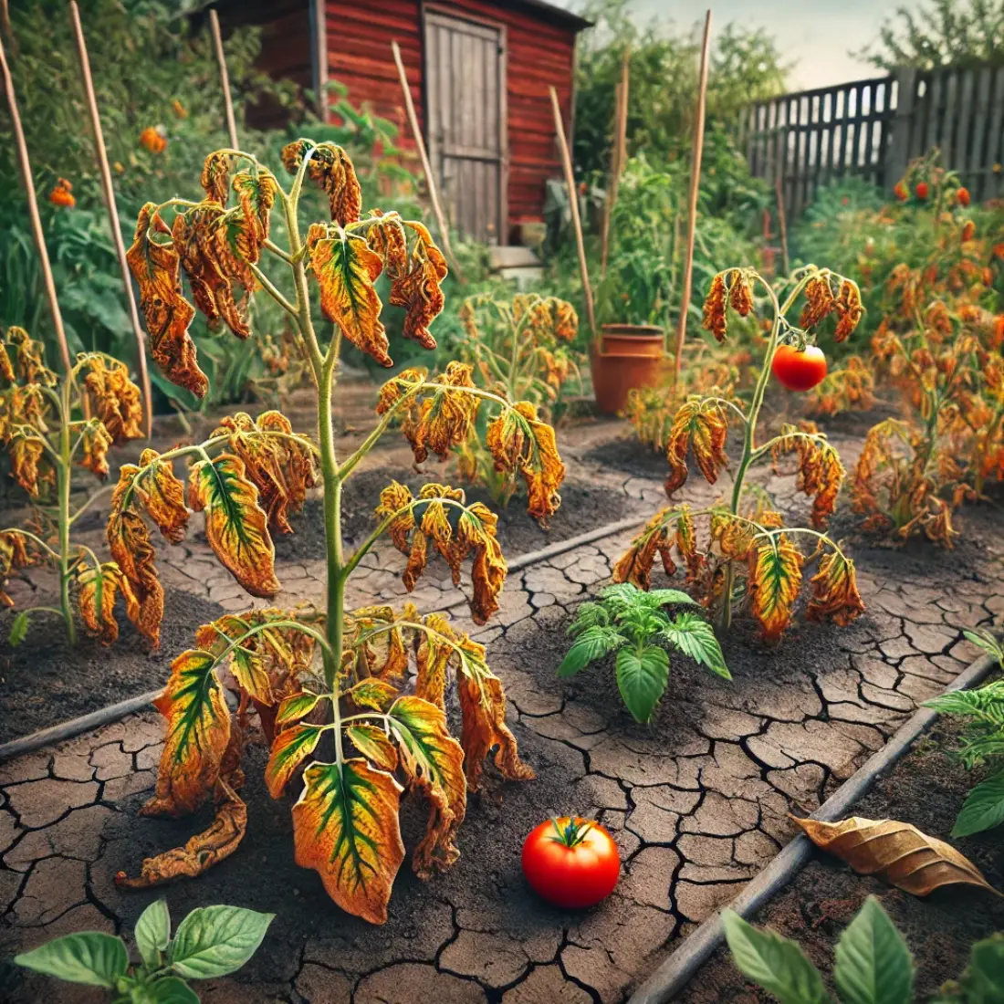
M415 873L427 878L460 857L455 839L467 808L464 750L450 735L446 715L422 698L397 700L388 724L398 741L409 787L424 792L430 801L426 835L413 857Z

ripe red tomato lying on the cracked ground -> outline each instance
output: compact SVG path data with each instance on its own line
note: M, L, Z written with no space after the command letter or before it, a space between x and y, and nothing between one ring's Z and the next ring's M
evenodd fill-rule
M613 837L589 819L548 819L531 830L523 844L526 881L555 907L595 906L613 892L619 873Z

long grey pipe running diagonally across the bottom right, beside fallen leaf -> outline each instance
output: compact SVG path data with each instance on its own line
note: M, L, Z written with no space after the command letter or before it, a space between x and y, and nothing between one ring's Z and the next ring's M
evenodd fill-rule
M945 688L944 693L968 690L982 683L996 665L996 660L992 657L983 656L960 673ZM836 822L844 818L847 809L867 793L883 773L897 764L937 717L938 713L930 708L916 711L893 738L877 753L868 757L809 818L823 822ZM808 861L812 847L812 841L802 833L782 847L773 860L750 880L742 893L719 908L683 940L669 959L632 994L628 1004L666 1004L673 1000L725 941L722 911L733 910L740 917L749 919L795 877Z

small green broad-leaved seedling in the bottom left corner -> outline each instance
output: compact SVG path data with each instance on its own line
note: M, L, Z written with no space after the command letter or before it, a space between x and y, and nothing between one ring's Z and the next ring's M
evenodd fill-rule
M55 938L14 963L67 983L110 991L112 1004L199 1004L189 980L211 980L240 969L258 950L274 914L242 907L200 907L171 936L165 900L152 903L136 922L142 962L130 962L121 938L81 931Z

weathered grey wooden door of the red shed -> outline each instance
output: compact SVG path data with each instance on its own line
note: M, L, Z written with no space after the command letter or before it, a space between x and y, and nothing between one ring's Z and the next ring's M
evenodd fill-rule
M426 137L450 223L496 244L504 212L503 29L427 12Z

